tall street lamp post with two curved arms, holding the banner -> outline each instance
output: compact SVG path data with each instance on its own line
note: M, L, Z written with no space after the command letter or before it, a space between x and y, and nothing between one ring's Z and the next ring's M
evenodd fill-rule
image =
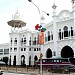
M28 1L31 2L34 6L36 6L36 8L38 9L39 15L40 15L40 24L41 24L41 13L40 13L40 9L38 8L38 6L37 6L35 3L32 2L32 0L28 0ZM42 12L46 13L45 11L42 11ZM46 13L46 15L49 16L49 13ZM40 25L40 24L39 24L39 25ZM41 44L40 44L40 45L41 45ZM40 51L40 75L42 75L42 57L43 57L43 54L42 54L42 52Z

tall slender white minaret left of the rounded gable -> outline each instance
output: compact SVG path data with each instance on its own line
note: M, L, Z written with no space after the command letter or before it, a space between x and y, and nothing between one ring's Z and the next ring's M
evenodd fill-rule
M54 41L54 50L52 51L52 55L53 57L58 56L58 51L57 51L57 25L56 25L56 5L55 5L55 1L54 4L52 6L53 8L53 41ZM56 56L54 56L54 53L56 54Z

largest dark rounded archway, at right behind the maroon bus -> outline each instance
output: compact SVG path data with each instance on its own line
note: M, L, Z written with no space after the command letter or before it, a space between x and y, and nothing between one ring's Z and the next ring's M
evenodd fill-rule
M63 47L61 50L61 57L63 57L63 58L74 57L73 49L69 46Z

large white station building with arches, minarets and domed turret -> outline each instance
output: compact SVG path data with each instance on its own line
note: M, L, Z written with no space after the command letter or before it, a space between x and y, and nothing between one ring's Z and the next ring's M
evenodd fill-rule
M38 44L38 32L22 30L26 26L17 11L12 20L9 33L10 42L0 44L0 58L7 56L11 65L34 65L39 60L40 51L43 59L75 57L75 0L72 0L72 11L62 10L56 15L53 8L53 21L45 25L44 44Z

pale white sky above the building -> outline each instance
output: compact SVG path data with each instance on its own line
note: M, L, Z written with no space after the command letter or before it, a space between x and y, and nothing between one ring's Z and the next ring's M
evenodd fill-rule
M49 13L45 17L45 23L52 21L52 5L54 0L32 0L37 5L42 15L42 11ZM59 14L62 10L72 11L71 0L55 0L57 6L56 13ZM12 20L12 15L18 10L21 19L26 23L25 29L31 31L35 30L35 25L40 23L40 15L36 6L34 6L28 0L0 0L0 44L9 43L9 33L11 27L7 24L8 21Z

